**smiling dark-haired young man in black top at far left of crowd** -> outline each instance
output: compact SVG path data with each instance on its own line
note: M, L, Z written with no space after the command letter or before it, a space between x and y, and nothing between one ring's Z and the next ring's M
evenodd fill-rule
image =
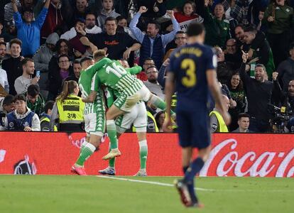
M21 66L21 40L15 38L9 42L11 58L7 58L2 61L2 68L6 70L7 79L9 81L9 94L15 95L16 89L14 88L14 82L16 78L23 74Z

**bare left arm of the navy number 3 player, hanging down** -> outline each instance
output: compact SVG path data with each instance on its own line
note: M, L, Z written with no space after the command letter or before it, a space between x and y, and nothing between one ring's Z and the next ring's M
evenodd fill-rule
M170 116L170 104L171 98L175 92L175 74L173 72L168 72L168 75L165 80L165 102L166 102L166 116L163 123L163 131L173 132L171 129L172 121Z

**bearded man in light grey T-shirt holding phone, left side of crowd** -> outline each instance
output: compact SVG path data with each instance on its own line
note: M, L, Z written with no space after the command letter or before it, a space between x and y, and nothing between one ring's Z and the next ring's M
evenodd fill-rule
M14 88L16 89L16 94L23 94L28 90L28 86L31 84L38 84L40 77L33 77L33 72L35 70L35 65L33 59L25 58L22 61L23 75L18 77L14 82Z

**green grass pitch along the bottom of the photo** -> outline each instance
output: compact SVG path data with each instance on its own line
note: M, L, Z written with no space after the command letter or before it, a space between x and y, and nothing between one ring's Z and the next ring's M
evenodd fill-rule
M293 178L197 178L204 209L183 207L175 178L116 178L0 175L0 212L294 212Z

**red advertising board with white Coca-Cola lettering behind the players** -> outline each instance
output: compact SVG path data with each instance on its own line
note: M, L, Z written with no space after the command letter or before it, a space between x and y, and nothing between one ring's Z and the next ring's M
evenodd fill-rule
M180 176L181 151L176 134L149 133L148 175ZM70 175L84 133L0 132L0 174ZM102 156L108 139L85 163L89 175L106 168ZM122 153L116 175L134 175L139 169L136 134L119 140ZM237 134L212 136L212 153L200 176L294 177L294 135Z

